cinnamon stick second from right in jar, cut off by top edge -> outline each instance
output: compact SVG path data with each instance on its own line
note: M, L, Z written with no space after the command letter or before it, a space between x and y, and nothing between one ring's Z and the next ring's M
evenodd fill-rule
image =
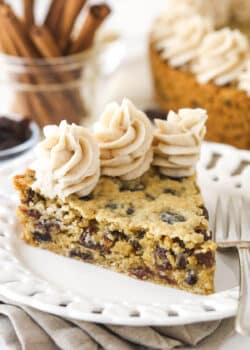
M86 0L67 1L64 5L62 18L60 21L60 39L59 47L64 51L70 40L70 35L75 24L76 18L81 12Z

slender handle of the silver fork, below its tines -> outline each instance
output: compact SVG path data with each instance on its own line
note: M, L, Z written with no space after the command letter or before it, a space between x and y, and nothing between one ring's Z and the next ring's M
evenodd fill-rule
M235 329L242 335L250 335L250 248L238 247L240 258L240 299Z

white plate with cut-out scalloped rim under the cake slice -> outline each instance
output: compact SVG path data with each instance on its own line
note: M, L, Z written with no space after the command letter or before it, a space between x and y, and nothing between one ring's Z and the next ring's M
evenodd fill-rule
M233 253L217 254L216 293L199 296L138 281L21 242L10 179L25 169L31 158L32 154L28 154L0 171L0 293L3 296L68 318L123 325L177 325L235 314L238 260ZM249 164L250 152L204 143L198 175L209 208L213 207L218 191L249 196Z

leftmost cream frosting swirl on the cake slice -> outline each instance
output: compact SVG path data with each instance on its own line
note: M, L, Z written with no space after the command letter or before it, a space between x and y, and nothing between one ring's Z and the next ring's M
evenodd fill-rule
M66 121L46 126L44 136L31 166L36 172L33 188L49 198L88 195L100 176L99 148L94 137L87 129Z

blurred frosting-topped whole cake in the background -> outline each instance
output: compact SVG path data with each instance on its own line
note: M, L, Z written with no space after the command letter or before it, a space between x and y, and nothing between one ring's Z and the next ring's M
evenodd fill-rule
M204 108L207 140L243 149L250 149L249 28L249 0L170 0L149 39L161 108Z

